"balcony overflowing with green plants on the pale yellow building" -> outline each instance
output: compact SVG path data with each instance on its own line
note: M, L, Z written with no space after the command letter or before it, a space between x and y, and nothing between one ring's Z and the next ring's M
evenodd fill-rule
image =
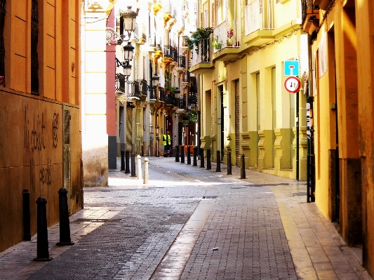
M191 67L189 72L203 74L214 69L212 56L212 46L210 39L201 39L199 45L191 51Z

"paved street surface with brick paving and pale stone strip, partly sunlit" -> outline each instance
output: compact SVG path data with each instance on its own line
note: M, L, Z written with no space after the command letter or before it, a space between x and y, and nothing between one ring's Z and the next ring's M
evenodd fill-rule
M149 157L148 184L110 171L70 217L73 246L54 225L53 260L32 261L33 236L0 253L0 279L370 279L305 182L199 166Z

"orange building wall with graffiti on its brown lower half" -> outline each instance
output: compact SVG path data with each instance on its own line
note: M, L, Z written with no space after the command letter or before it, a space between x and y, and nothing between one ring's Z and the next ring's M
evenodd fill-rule
M79 11L76 1L0 1L0 251L36 233L36 199L48 226L82 207ZM30 232L24 232L23 194ZM25 234L25 235L24 235ZM29 240L29 239L28 239Z

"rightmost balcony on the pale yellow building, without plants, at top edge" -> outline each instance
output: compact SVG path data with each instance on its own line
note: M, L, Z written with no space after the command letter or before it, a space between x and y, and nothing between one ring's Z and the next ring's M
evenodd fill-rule
M269 5L267 1L253 0L246 6L245 44L261 46L275 39L273 9Z

